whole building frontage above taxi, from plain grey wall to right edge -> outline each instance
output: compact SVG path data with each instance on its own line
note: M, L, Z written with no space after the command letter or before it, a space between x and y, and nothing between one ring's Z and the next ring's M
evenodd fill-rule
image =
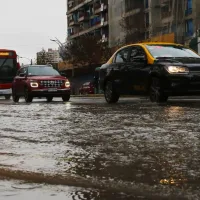
M169 35L166 41L188 44L199 34L199 0L108 0L108 6L110 46L124 42L126 30L120 22L126 17L132 21L132 28L140 30L138 41L141 38L156 41L158 36Z

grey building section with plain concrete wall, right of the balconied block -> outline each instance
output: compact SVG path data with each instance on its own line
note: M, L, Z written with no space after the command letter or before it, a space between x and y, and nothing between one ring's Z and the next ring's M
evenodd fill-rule
M139 40L145 38L144 0L108 0L108 14L111 47L127 43L127 32Z

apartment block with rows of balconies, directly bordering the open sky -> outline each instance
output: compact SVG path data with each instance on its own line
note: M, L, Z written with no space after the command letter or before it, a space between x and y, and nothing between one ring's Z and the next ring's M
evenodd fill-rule
M67 0L66 15L68 41L85 34L108 41L108 0Z

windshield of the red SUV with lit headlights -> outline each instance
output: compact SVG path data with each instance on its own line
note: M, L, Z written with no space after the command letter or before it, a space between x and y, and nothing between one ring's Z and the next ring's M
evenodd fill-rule
M58 71L49 66L31 66L28 68L29 76L60 76Z

